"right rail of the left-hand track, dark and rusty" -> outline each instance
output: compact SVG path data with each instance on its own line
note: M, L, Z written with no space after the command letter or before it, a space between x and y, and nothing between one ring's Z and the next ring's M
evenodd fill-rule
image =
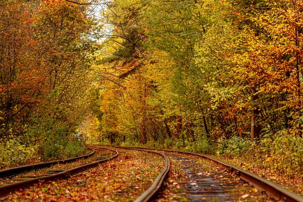
M99 147L99 148L104 148L104 147ZM84 164L84 165L78 166L76 168L72 168L72 169L69 169L69 170L66 170L66 171L63 171L63 172L60 172L60 173L56 173L54 175L37 177L37 178L33 178L33 179L21 181L21 182L15 182L15 183L12 183L12 184L7 184L7 185L4 185L4 186L0 186L0 200L1 199L6 199L11 192L14 192L14 191L19 190L19 189L28 188L28 187L34 185L35 183L38 183L38 181L41 181L41 180L44 180L44 181L58 181L58 180L62 180L62 179L67 179L72 175L76 175L76 174L81 173L83 171L86 171L90 168L97 167L99 164L102 164L104 162L112 160L112 159L116 158L119 154L117 150L114 150L114 149L111 149L111 148L105 148L105 149L115 151L116 154L114 156L110 157L110 158L99 160L99 161L89 163L89 164Z

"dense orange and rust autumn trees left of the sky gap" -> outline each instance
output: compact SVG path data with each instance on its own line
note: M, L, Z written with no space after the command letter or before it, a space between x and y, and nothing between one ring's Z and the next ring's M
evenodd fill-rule
M61 0L0 5L0 138L60 145L89 110L91 8Z

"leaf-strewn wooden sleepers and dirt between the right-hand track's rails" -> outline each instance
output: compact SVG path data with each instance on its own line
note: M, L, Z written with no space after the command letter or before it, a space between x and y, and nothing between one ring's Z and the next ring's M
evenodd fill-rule
M171 170L153 201L274 201L206 160L169 155Z

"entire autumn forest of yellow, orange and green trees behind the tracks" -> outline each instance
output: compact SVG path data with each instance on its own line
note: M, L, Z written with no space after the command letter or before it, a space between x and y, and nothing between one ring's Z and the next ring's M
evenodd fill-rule
M0 1L0 168L142 144L218 155L301 194L302 11L301 0Z

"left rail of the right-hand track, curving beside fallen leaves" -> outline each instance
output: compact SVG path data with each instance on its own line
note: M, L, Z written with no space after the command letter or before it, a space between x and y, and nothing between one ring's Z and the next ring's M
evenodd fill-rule
M158 177L156 178L154 183L144 193L142 193L137 199L134 200L134 202L147 202L147 201L149 201L151 198L153 198L153 196L155 196L157 191L160 189L160 187L161 187L161 185L164 181L164 178L166 177L166 175L167 175L167 173L170 169L169 158L164 153L160 153L160 152L157 152L157 151L150 151L150 150L146 150L144 148L130 148L130 147L124 147L124 146L114 146L114 147L145 151L145 152L154 153L154 154L156 153L156 154L162 155L164 157L165 166L164 166L164 169L162 170L162 172L158 175Z

